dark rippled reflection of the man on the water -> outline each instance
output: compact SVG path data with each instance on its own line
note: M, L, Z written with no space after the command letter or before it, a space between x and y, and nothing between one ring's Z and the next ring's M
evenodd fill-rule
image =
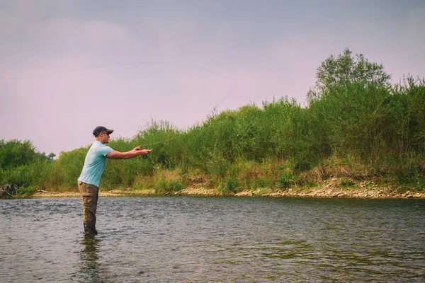
M101 241L101 239L92 236L84 236L81 240L80 282L105 282L101 279L101 264L98 255Z

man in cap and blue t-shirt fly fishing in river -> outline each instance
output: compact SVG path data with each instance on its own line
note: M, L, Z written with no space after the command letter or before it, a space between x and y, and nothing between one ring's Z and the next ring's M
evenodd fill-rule
M91 145L84 161L83 171L78 178L78 187L83 202L84 214L84 233L86 235L97 235L96 230L96 208L99 194L99 183L105 170L106 158L111 159L130 159L137 156L147 156L152 149L142 149L137 146L132 151L120 152L114 151L106 146L109 142L109 135L113 129L98 126L94 129L93 135L96 141Z

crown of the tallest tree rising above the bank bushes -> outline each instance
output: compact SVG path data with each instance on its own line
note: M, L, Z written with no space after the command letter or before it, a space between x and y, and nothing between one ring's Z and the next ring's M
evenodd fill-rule
M391 75L384 71L384 66L371 63L363 54L352 56L348 47L338 57L329 56L316 72L316 84L307 93L307 100L319 99L324 91L334 86L347 83L362 83L364 86L375 83L377 86L390 86Z

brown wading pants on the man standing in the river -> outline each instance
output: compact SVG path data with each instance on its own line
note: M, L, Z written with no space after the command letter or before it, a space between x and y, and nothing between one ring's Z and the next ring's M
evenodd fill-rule
M99 188L80 181L78 181L78 188L83 202L84 233L92 236L97 235L96 208L99 198Z

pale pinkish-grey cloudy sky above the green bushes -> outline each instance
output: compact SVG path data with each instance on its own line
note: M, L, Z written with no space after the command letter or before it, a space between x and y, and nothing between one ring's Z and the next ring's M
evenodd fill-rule
M425 76L422 0L0 0L0 139L57 156L283 96L348 47ZM130 150L130 149L129 149Z

